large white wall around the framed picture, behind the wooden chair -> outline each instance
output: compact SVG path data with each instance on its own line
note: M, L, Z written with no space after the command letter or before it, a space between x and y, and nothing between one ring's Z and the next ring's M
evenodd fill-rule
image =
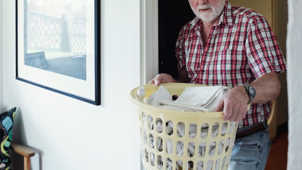
M4 106L18 107L13 140L37 153L33 170L138 170L140 1L101 1L101 106L15 79L15 1L4 1ZM23 160L15 154L14 169Z

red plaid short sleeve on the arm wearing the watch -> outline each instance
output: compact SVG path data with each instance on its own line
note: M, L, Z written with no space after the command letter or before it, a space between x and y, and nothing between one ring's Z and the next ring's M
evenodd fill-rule
M269 72L279 74L286 71L286 62L276 36L263 17L251 21L245 51L256 78Z

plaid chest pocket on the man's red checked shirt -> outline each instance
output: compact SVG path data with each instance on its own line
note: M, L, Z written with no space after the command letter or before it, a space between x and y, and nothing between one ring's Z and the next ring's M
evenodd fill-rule
M241 58L242 52L234 49L223 49L214 52L211 64L213 65L213 77L218 83L226 85L237 79Z

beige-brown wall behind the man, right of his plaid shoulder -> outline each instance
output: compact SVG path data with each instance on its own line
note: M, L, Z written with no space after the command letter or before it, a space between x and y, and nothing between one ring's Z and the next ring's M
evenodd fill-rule
M271 25L281 51L286 59L286 33L288 5L284 0L229 0L232 5L254 9L262 14ZM286 74L278 75L281 82L281 93L277 99L277 126L288 121Z

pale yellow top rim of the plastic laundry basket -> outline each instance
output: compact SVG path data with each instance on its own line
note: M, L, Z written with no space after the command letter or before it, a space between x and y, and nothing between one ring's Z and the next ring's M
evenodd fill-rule
M190 83L161 83L159 84L158 87L161 85L163 86L186 86L186 87L194 87L194 86L206 86L206 85L200 85L200 84L190 84ZM155 84L147 84L143 85L145 88L154 88ZM189 111L179 111L179 110L171 110L171 109L165 109L165 108L160 108L160 107L155 107L152 105L148 105L147 103L143 103L142 101L136 100L135 96L133 94L137 93L137 89L141 87L138 86L136 88L133 88L130 91L130 100L131 102L136 105L139 108L142 108L143 110L148 110L151 112L160 112L160 113L165 113L166 114L171 114L173 116L185 116L185 117L213 117L213 118L222 118L223 111L218 111L218 112L189 112ZM250 109L250 104L248 105L248 110ZM201 114L202 113L202 114Z

